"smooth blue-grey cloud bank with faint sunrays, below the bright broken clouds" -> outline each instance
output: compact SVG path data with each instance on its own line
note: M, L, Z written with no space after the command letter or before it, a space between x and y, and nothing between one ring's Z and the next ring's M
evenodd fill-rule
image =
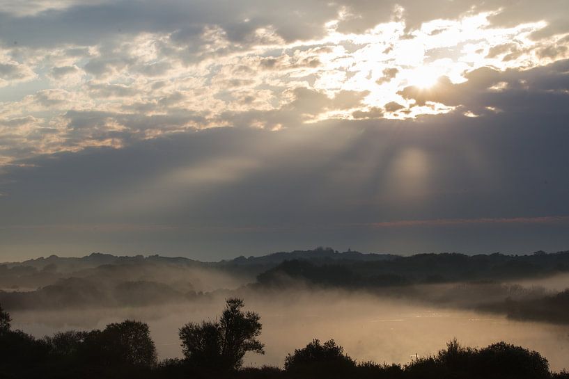
M10 225L125 223L170 227L169 232L128 234L139 241L129 244L132 251L136 246L148 251L144 244L152 236L162 244L160 252L203 248L217 254L212 257L233 255L231 241L237 240L251 251L278 249L286 245L284 236L300 244L356 243L403 252L421 246L452 249L455 240L449 236L456 233L462 236L462 245L455 245L459 250L513 249L512 241L524 235L524 245L516 245L523 251L561 248L566 223L540 220L569 215L563 201L569 186L565 118L527 109L483 118L450 113L419 121L328 120L279 133L212 128L130 140L121 149L86 147L27 159L18 162L27 167L8 166L3 175L10 183L2 184L6 195L0 202L11 215L1 220L8 228L3 241L23 241ZM109 115L69 117L72 128L82 133ZM149 127L165 121L129 120ZM398 236L393 228L388 236L377 232L386 228L370 227L399 220L446 222L405 226L426 231L414 234L414 244L403 243L408 234ZM498 229L483 232L486 225ZM230 230L261 226L260 232ZM203 227L217 229L208 234ZM496 230L502 233L499 241L492 234ZM481 233L488 239L480 239ZM103 231L81 235L119 250L125 238ZM506 235L511 235L509 244ZM67 237L61 232L51 238ZM210 237L217 242L206 242Z

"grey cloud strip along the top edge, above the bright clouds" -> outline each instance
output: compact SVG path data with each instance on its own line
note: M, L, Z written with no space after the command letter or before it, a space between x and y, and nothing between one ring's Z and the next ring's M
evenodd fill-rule
M566 3L563 0L536 3L533 0L485 1L473 7L469 0L437 1L111 1L108 3L72 4L59 10L35 15L16 16L0 13L0 35L9 44L46 46L60 43L95 45L113 36L148 33L174 33L173 39L187 43L203 33L204 27L217 25L229 40L247 42L260 27L272 26L287 41L318 38L325 33L324 24L348 14L338 25L339 31L361 33L380 22L387 22L399 12L411 29L432 19L452 19L473 10L496 11L495 26L514 26L545 20L549 31L543 35L569 31Z

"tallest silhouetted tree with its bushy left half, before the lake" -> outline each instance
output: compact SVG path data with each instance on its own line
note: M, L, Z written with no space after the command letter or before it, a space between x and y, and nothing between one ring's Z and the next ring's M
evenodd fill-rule
M182 351L188 363L201 368L231 371L243 364L245 353L264 354L264 345L256 337L262 325L256 312L243 312L239 298L226 300L219 321L187 323L180 328Z

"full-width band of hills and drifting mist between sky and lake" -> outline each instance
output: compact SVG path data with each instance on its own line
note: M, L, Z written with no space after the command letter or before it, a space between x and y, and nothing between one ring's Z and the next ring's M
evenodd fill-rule
M0 284L17 287L0 291L0 303L10 312L166 307L243 293L278 298L281 293L327 289L366 293L376 301L399 299L518 320L569 323L568 264L569 252L396 257L323 248L217 264L158 256L49 257L0 266ZM22 291L38 283L48 284Z

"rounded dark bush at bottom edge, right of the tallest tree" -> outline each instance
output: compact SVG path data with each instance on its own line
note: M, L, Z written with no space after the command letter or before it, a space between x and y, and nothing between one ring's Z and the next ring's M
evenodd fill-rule
M295 378L349 378L356 362L345 355L334 339L320 344L314 339L305 348L297 349L285 359L285 371Z

